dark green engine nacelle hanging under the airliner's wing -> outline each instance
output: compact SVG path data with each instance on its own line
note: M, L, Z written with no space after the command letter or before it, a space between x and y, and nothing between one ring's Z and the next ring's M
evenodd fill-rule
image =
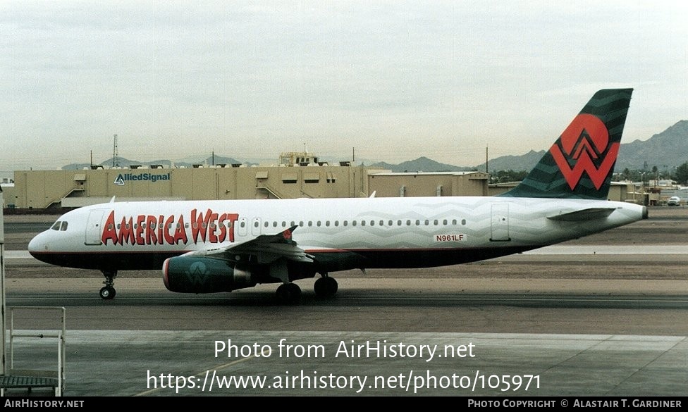
M231 292L253 287L257 276L248 268L223 259L177 256L163 263L165 287L172 292Z

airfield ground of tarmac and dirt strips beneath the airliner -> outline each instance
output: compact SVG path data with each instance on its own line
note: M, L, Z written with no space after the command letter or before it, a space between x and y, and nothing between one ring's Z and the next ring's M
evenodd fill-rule
M300 306L274 285L173 294L158 271L122 273L103 301L99 273L27 256L56 216L9 218L8 306L66 308L69 396L688 394L688 208L481 263L338 273L334 299L302 280ZM35 340L16 356L54 363Z

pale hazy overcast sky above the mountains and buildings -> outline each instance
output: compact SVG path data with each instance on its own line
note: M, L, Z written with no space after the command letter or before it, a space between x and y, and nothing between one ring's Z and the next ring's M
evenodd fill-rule
M456 166L547 149L598 89L688 119L685 1L2 1L0 171L215 154Z

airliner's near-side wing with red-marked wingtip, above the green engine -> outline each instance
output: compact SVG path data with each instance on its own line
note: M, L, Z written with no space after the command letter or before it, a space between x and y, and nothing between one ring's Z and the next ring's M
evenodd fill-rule
M292 226L275 235L260 235L247 242L235 243L218 249L192 251L184 256L208 256L231 261L247 260L254 263L271 263L279 258L312 263L312 256L296 245L291 234L298 226Z

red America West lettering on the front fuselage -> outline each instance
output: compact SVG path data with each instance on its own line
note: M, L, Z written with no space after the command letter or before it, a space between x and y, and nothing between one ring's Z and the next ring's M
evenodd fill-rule
M115 218L111 211L101 237L104 244L187 244L234 242L238 213L216 213L193 209L186 223L184 215L138 215ZM189 229L189 231L188 231Z

